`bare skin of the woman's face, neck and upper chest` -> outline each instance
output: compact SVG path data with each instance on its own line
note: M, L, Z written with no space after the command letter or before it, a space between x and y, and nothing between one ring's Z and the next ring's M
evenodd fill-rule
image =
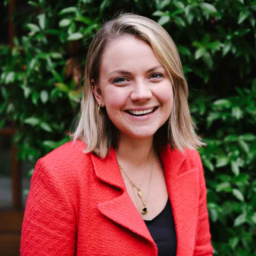
M94 82L94 81L92 81ZM127 192L141 217L152 220L166 204L168 193L164 172L153 137L169 118L173 105L172 83L152 48L144 41L123 36L110 42L102 56L99 83L94 83L94 96L120 131L116 157L132 181L140 186L144 200L148 193L148 213L129 180L121 172ZM127 110L157 109L150 115L132 116ZM149 189L150 170L154 166Z

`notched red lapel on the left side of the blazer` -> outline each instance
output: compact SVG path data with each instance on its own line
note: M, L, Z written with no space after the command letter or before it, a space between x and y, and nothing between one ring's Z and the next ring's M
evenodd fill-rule
M111 148L110 153L104 159L93 154L91 154L91 158L96 176L105 183L120 188L122 191L120 196L99 203L99 211L108 219L144 237L156 248L154 240L125 188L114 149Z

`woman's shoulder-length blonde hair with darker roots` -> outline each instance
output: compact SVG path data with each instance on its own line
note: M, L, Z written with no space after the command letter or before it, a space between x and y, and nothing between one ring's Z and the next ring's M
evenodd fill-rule
M172 148L196 149L204 143L195 133L188 109L188 85L184 78L180 56L169 34L158 23L132 13L123 13L107 21L94 36L85 64L84 94L74 141L83 140L85 153L93 152L104 158L111 146L118 144L118 129L108 117L105 108L98 112L92 93L92 78L99 81L101 58L108 43L118 37L132 35L148 43L165 68L173 85L173 108L169 119L157 130L154 138L158 146L171 144ZM73 143L74 143L73 141Z

